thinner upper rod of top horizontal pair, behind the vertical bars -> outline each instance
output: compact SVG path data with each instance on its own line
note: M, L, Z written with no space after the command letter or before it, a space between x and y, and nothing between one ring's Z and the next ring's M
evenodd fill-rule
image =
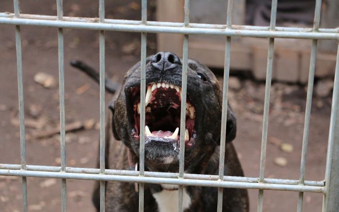
M0 17L15 17L12 13L0 13ZM26 19L39 19L39 20L57 20L57 16L44 16L44 15L31 15L31 14L20 14L20 18ZM75 22L98 22L98 18L89 18L89 17L62 17L65 21L75 21ZM105 19L105 23L110 24L131 24L139 25L141 21L139 20L123 20L123 19ZM165 27L184 27L182 22L164 22L164 21L147 21L149 26L165 26ZM226 25L223 24L200 24L200 23L189 23L189 28L207 28L207 29L226 29ZM248 26L248 25L232 25L232 29L235 30L260 30L260 31L269 31L269 27L263 26ZM312 32L313 28L304 28L304 27L276 27L275 31L283 32ZM320 28L320 33L339 33L339 27L334 29Z

